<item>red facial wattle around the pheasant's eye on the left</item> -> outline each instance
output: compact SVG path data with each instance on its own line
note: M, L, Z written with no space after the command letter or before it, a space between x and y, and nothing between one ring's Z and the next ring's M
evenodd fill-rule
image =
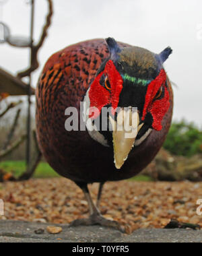
M110 92L106 90L100 84L100 78L102 75L107 75L108 80L110 82L111 90ZM116 108L119 104L119 96L123 89L123 78L121 77L119 71L117 71L113 61L109 60L102 71L92 83L89 91L90 98L90 108L91 114L90 117L92 119L96 119L104 106L111 104L112 106L112 115L116 112ZM93 111L94 108L97 108L98 111Z

